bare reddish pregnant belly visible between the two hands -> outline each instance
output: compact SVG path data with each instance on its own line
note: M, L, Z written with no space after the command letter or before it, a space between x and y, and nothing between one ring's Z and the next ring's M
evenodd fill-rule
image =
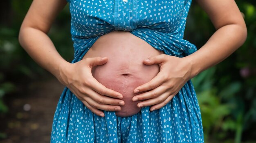
M159 73L159 66L145 65L143 60L150 56L164 54L156 50L146 41L127 31L112 31L97 39L85 54L88 57L108 57L108 62L92 68L92 76L105 87L121 93L125 105L117 116L127 117L138 113L141 109L132 101L137 95L133 90L139 85L153 79Z

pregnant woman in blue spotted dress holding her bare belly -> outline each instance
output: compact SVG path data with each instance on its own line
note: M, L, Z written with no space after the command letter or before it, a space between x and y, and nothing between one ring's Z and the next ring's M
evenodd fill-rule
M47 37L67 2L72 63ZM191 0L67 2L34 0L19 35L28 54L66 85L51 142L204 142L190 79L245 42L234 0L197 0L216 28L198 51L183 39Z

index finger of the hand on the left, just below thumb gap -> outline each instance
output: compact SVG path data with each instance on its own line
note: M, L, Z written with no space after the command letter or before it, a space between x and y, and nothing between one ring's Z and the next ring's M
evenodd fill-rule
M112 89L106 88L104 85L102 85L100 82L98 82L95 78L92 78L90 80L90 88L96 91L97 93L101 95L106 95L112 98L119 98L122 99L123 95L117 91L114 91Z

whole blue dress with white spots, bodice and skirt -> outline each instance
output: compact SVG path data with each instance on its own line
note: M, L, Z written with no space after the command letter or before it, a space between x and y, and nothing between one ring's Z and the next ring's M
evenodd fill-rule
M183 39L191 0L67 0L70 4L74 59L113 30L124 30L153 48L184 57L197 50ZM202 143L202 119L191 80L166 106L129 117L114 111L95 115L67 88L52 124L51 143Z

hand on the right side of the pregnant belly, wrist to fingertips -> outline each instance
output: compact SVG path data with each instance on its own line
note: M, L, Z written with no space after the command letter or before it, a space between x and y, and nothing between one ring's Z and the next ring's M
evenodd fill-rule
M154 111L171 101L185 83L192 78L192 64L188 58L167 54L151 56L148 59L149 61L144 60L143 63L146 65L158 64L160 72L149 82L135 88L134 93L148 92L134 96L132 101L144 100L137 106L139 108L151 106L150 111Z

